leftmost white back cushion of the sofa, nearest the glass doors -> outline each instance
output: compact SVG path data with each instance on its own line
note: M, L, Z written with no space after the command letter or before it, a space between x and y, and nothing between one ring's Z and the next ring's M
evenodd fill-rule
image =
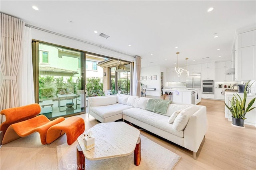
M108 95L104 97L91 97L90 106L105 106L110 104L116 104L116 95Z

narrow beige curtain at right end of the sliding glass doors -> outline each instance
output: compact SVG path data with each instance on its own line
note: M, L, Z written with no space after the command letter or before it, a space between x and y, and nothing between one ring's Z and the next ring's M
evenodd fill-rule
M136 56L134 59L134 73L133 73L133 82L134 82L134 91L133 95L134 96L139 96L141 95L141 90L140 90L140 66L141 66L141 57Z

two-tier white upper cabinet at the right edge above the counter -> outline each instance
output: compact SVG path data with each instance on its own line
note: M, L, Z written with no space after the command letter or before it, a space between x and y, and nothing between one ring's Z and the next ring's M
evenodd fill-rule
M239 33L236 39L235 80L256 80L256 30Z

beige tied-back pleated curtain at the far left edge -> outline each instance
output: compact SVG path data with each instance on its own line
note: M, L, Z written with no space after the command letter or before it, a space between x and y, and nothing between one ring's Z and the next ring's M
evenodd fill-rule
M2 13L0 19L0 70L3 75L0 89L1 111L2 109L19 106L16 76L20 66L25 23L18 18Z

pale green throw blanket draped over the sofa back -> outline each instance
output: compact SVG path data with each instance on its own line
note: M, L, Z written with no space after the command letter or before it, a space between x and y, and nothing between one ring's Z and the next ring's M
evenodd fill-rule
M161 99L149 99L146 110L166 114L167 107L172 101Z

